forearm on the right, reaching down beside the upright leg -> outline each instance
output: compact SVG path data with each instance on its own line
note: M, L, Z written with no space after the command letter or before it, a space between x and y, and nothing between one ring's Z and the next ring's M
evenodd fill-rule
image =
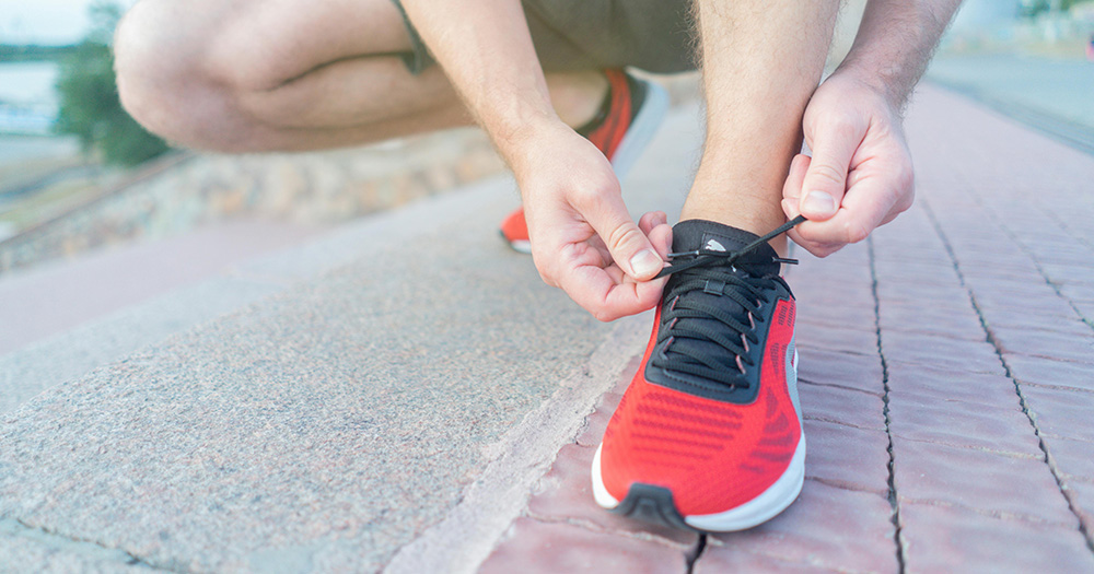
M961 0L869 0L840 70L854 73L901 109L958 4Z

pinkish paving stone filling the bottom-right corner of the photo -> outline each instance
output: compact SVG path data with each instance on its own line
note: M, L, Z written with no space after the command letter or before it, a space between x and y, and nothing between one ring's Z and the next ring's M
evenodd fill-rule
M927 504L901 504L900 525L909 573L1094 571L1094 553L1074 528Z

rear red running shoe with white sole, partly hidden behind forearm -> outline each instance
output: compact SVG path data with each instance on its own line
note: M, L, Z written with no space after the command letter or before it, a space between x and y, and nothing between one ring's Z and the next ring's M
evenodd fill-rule
M608 93L601 110L585 127L578 128L612 162L621 179L653 139L668 109L663 87L639 80L622 70L604 70ZM516 208L502 222L501 237L510 247L529 254L528 225L524 208Z

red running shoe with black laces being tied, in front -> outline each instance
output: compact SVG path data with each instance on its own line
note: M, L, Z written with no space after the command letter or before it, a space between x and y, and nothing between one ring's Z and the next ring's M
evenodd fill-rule
M615 513L678 528L750 528L805 478L794 296L765 237L709 221L673 229L673 273L645 356L593 460Z

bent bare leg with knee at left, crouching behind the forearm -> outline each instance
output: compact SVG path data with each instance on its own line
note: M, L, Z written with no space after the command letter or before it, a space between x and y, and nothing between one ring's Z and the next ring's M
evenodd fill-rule
M389 0L144 0L119 26L118 85L142 124L221 151L350 145L469 125L443 72L411 75ZM595 114L600 73L551 74L563 120Z

